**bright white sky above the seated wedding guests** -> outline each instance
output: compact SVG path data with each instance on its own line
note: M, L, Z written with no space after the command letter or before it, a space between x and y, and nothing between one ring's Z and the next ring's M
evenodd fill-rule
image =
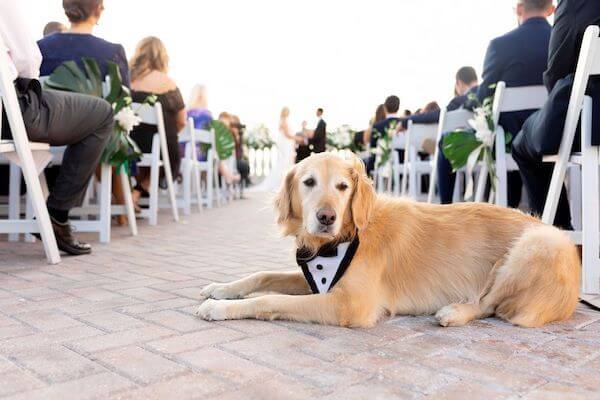
M66 23L61 0L31 3L36 36ZM445 104L463 65L481 73L490 39L516 27L516 0L105 0L95 34L125 46L155 35L187 99L208 88L213 114L276 126L290 107L294 128L325 109L331 129L366 127L397 94L401 107ZM34 12L33 12L34 11Z

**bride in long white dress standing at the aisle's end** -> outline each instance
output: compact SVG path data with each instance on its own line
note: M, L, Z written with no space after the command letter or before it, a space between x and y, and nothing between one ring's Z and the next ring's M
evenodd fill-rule
M284 174L294 165L296 137L288 124L289 115L290 109L283 107L279 117L279 134L275 140L277 144L277 163L265 180L250 188L250 192L271 192L279 189Z

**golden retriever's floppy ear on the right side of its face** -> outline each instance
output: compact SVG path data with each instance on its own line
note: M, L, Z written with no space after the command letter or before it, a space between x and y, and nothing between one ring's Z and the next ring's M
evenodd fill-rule
M354 180L354 193L352 194L352 220L359 231L364 230L371 219L375 190L365 169L365 165L358 157L350 160L352 179Z

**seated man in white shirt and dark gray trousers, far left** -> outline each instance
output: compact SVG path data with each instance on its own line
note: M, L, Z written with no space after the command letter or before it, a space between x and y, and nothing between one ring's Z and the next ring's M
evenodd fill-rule
M112 107L97 97L43 89L38 81L42 55L26 26L21 2L0 0L0 36L8 47L10 79L15 82L27 135L34 142L67 146L47 200L58 248L72 255L89 254L91 246L73 236L69 212L81 205L112 134ZM4 114L2 119L3 129L10 130ZM3 137L6 134L10 132L3 132Z

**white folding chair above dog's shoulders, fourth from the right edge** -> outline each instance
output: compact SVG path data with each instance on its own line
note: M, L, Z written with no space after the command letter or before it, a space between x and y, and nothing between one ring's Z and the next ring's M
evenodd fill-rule
M431 160L421 160L419 151L423 150L426 139L435 140L438 136L438 124L415 124L408 121L404 133L404 162L400 164L398 153L394 152L394 181L396 194L398 194L398 180L402 169L402 196L408 195L413 200L418 200L421 188L421 176L431 174ZM408 190L407 190L408 189Z

